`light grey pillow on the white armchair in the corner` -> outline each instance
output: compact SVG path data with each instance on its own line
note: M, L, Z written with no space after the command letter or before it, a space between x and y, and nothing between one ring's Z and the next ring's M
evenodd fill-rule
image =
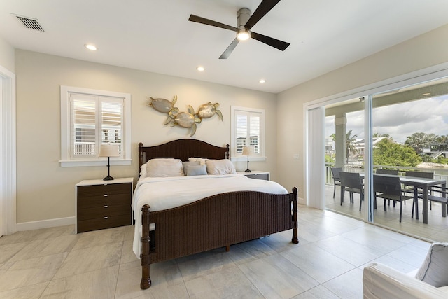
M448 243L431 244L415 278L436 288L448 286Z

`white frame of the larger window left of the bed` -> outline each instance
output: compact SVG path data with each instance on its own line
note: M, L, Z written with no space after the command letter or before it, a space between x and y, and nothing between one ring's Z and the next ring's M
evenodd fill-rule
M93 90L61 85L61 167L102 166L107 158L71 158L71 104L70 95L83 94L94 97L115 97L123 99L123 136L121 137L122 153L119 158L111 158L111 165L131 165L131 95L124 92Z

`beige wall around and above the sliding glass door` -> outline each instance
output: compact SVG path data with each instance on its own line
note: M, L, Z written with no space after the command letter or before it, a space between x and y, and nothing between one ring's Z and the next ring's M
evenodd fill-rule
M283 186L304 195L304 103L448 62L448 25L277 95L277 171ZM299 160L293 159L295 153ZM311 165L312 167L312 165Z

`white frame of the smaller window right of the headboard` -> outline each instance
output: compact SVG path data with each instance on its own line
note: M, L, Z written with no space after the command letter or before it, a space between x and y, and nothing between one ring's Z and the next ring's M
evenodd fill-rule
M231 141L230 141L230 158L232 161L243 161L247 157L237 153L237 114L238 113L250 113L250 114L260 114L260 141L259 150L260 153L251 155L251 161L265 161L266 160L266 138L265 138L265 109L256 109L241 106L230 106L230 127L231 127ZM250 129L249 129L250 130Z

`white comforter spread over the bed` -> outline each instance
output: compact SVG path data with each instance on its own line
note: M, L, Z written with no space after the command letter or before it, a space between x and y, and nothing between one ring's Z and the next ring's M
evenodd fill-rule
M189 204L204 197L234 191L260 191L272 194L287 194L288 191L274 181L249 179L240 174L221 176L176 176L166 178L141 178L132 200L135 232L134 253L141 254L141 207L151 206L151 211L162 211Z

